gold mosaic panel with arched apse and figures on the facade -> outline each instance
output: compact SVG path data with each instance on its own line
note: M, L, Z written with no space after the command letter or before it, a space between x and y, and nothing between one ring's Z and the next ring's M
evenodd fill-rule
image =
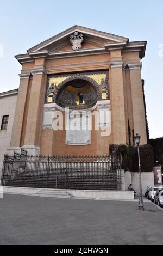
M83 109L95 105L97 100L108 99L107 71L48 76L45 103Z

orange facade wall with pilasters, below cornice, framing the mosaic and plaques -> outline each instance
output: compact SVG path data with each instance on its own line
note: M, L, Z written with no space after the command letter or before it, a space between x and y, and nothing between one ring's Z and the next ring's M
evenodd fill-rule
M126 64L130 65L129 70L125 69ZM132 143L132 130L141 135L141 144L147 143L139 52L114 50L90 56L36 58L22 66L11 153L14 147L24 147L30 154L108 154L109 144ZM91 145L65 145L65 131L42 130L46 74L90 70L109 71L111 134L101 137L99 132L92 131Z

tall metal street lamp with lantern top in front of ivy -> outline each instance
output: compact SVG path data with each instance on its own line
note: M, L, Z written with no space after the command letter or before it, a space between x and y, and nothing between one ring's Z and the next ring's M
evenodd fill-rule
M139 144L140 144L140 136L136 133L135 142L137 144L137 153L139 159L139 210L145 210L142 199L142 185L141 185L141 165L140 165L140 152L139 152Z

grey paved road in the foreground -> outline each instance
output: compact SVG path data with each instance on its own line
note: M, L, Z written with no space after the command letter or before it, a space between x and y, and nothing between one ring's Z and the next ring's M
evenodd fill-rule
M1 245L161 245L163 211L145 202L5 194Z

